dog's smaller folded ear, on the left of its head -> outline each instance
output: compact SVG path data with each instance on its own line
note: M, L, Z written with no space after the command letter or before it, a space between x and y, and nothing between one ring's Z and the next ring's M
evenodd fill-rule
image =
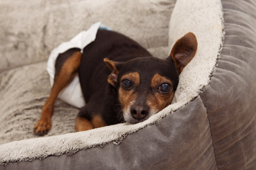
M117 83L117 75L118 75L118 62L113 62L109 58L104 58L103 61L106 63L106 65L109 67L109 69L112 71L108 77L108 82L112 86L116 87Z

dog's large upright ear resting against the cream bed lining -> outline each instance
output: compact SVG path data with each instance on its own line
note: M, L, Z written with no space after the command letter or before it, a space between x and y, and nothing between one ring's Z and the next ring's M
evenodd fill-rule
M178 74L195 56L197 50L197 39L195 34L189 32L174 44L168 58L173 59Z

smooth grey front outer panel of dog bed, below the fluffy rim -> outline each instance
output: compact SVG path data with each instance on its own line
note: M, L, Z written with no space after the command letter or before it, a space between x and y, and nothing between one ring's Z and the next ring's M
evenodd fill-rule
M218 169L200 97L155 125L72 155L9 163L4 169Z

